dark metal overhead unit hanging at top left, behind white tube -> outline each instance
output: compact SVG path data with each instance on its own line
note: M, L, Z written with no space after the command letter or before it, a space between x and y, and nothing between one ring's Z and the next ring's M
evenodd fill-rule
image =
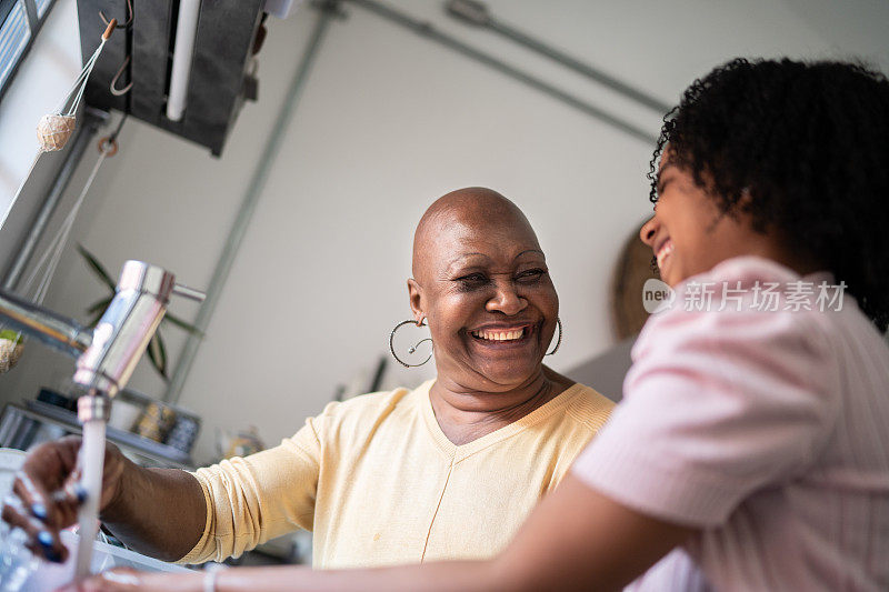
M220 155L244 94L256 98L248 76L262 20L263 0L203 0L198 17L186 110L179 121L167 118L179 0L130 0L132 21L108 40L96 63L84 102L130 116L210 149ZM84 57L96 50L107 19L128 20L127 0L78 0L80 46ZM124 66L127 56L130 62ZM111 81L122 68L111 92ZM249 83L246 83L248 81Z

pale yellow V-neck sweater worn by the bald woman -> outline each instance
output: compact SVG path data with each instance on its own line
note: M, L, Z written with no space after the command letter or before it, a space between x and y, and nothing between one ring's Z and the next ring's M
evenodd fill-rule
M432 382L330 403L281 445L199 469L207 526L180 563L238 556L296 528L314 532L318 569L490 556L613 407L575 384L455 445L429 402Z

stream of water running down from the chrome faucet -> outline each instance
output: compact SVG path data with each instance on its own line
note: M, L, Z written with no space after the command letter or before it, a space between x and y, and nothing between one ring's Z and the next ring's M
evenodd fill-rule
M87 500L80 506L80 543L77 549L76 580L89 575L92 560L92 542L99 533L99 499L102 494L102 471L104 469L104 421L93 419L83 424L83 443L78 459L82 476L81 484L87 490Z

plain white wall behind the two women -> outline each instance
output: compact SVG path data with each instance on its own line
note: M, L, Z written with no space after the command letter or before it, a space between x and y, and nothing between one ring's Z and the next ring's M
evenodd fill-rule
M392 1L657 133L659 118L540 57L442 14L439 1ZM815 4L815 6L813 6ZM889 70L886 3L492 0L495 14L665 101L735 56L863 56ZM551 364L608 348L608 278L620 244L649 211L651 147L468 61L359 7L332 24L232 269L180 403L212 428L256 424L274 443L323 407L338 383L387 351L409 317L404 279L423 209L481 184L513 199L538 231L561 299L566 339ZM77 239L109 267L144 259L206 285L283 90L316 19L303 7L271 21L260 102L248 104L222 159L128 123L100 174ZM94 157L92 157L94 158ZM84 162L84 167L88 163ZM81 314L99 293L68 255L48 303ZM197 307L177 302L193 318ZM178 351L183 335L168 333ZM29 349L0 377L6 398L32 395L70 362ZM397 371L413 384L429 369ZM131 383L160 395L140 365ZM593 384L595 385L595 384Z

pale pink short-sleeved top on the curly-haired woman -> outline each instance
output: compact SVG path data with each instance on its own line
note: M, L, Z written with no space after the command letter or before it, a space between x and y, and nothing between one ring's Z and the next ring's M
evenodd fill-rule
M850 294L819 311L821 281L743 257L685 282L572 468L629 508L701 529L686 562L717 590L889 590L889 348ZM743 305L718 311L723 282ZM815 283L802 307L800 282ZM777 311L761 310L769 283ZM709 312L695 297L707 284ZM693 581L677 553L665 563L638 584L658 571Z

